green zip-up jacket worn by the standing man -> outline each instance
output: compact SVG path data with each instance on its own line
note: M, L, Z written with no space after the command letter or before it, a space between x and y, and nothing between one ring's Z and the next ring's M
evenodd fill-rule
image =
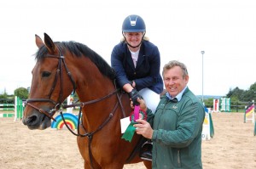
M148 122L153 125L152 168L201 169L201 132L205 110L187 88L182 99L173 103L166 95Z

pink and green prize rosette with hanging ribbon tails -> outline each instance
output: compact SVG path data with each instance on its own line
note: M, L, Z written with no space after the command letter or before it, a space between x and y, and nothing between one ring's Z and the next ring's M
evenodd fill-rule
M135 127L133 127L134 124L136 124L137 119L143 119L147 120L147 114L145 111L140 110L139 106L135 106L134 111L130 114L130 121L131 123L126 128L125 133L123 134L122 138L124 138L126 141L129 141L131 143L131 139L133 138L134 132L136 130Z

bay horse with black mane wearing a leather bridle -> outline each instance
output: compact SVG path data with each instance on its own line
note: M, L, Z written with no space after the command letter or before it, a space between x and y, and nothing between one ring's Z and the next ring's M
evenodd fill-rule
M121 138L120 119L132 110L128 94L115 85L111 66L82 43L53 42L46 33L44 41L35 37L38 52L23 124L29 129L50 127L55 112L75 91L82 112L75 135L84 168L120 169L143 161L137 150L141 136L135 133L131 143ZM151 168L151 161L143 163Z

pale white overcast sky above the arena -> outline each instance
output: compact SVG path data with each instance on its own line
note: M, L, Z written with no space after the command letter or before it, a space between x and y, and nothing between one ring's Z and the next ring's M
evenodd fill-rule
M82 42L110 63L129 14L146 22L146 36L160 49L161 68L172 59L188 66L196 95L247 90L256 82L255 8L253 0L1 1L0 93L31 85L35 34Z

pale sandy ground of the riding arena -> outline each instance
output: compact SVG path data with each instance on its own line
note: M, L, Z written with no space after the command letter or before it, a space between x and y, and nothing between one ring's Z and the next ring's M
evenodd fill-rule
M253 123L243 113L212 113L214 137L202 143L205 169L256 168ZM29 130L14 118L0 118L1 169L81 169L76 138L67 130ZM143 169L143 163L125 165Z

